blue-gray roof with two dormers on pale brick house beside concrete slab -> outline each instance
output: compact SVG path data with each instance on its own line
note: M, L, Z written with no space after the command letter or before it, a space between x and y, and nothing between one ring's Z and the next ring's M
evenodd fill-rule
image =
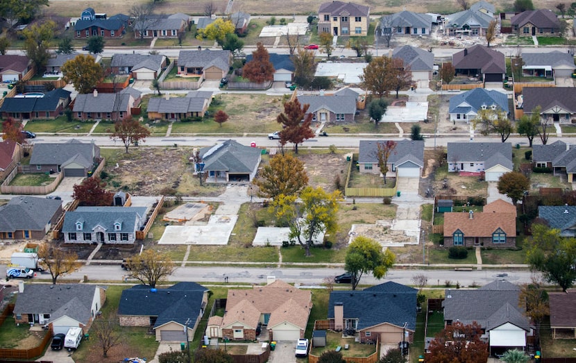
M110 233L134 233L139 224L144 223L146 207L78 207L73 212L66 212L62 233L92 232L94 227L102 226ZM82 222L82 228L76 228L76 222ZM115 223L120 222L120 230L115 230Z

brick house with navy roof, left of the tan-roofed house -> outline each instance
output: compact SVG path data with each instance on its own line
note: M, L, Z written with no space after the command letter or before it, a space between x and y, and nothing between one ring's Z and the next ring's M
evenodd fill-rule
M196 282L178 282L165 289L146 285L124 289L118 305L120 326L149 327L157 341L192 341L208 303L208 291Z

